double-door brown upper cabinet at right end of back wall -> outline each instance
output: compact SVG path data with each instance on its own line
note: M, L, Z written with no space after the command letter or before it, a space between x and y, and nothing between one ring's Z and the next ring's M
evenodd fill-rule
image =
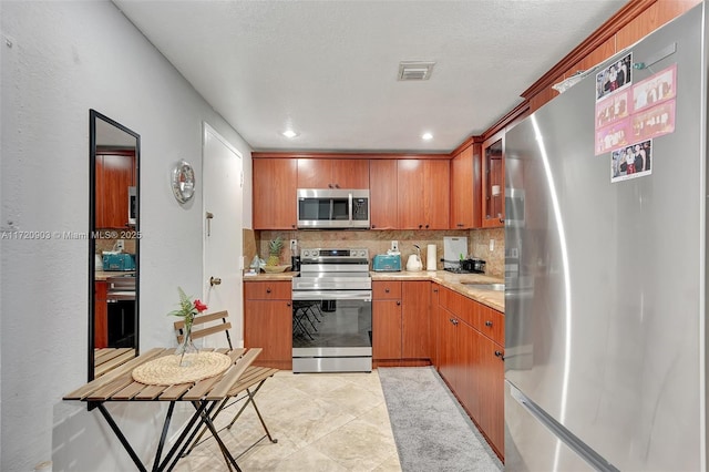
M449 229L451 162L397 161L399 229Z

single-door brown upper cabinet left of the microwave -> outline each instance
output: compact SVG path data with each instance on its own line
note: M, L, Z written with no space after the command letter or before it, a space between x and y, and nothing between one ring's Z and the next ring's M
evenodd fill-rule
M255 158L254 229L296 229L296 177L292 158Z

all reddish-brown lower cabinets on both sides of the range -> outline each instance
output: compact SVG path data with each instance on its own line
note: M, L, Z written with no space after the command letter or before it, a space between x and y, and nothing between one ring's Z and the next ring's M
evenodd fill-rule
M289 281L244 283L244 345L257 365L292 369ZM372 281L374 365L439 370L493 450L504 454L504 315L436 283Z

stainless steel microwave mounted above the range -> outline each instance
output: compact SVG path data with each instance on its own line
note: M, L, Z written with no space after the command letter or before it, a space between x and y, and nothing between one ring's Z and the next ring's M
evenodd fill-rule
M369 229L369 189L298 188L298 228Z

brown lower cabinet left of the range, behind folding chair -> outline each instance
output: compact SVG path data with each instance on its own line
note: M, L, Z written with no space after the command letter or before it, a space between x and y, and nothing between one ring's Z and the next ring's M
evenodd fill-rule
M292 369L292 302L289 281L244 284L244 346L263 348L254 365Z

